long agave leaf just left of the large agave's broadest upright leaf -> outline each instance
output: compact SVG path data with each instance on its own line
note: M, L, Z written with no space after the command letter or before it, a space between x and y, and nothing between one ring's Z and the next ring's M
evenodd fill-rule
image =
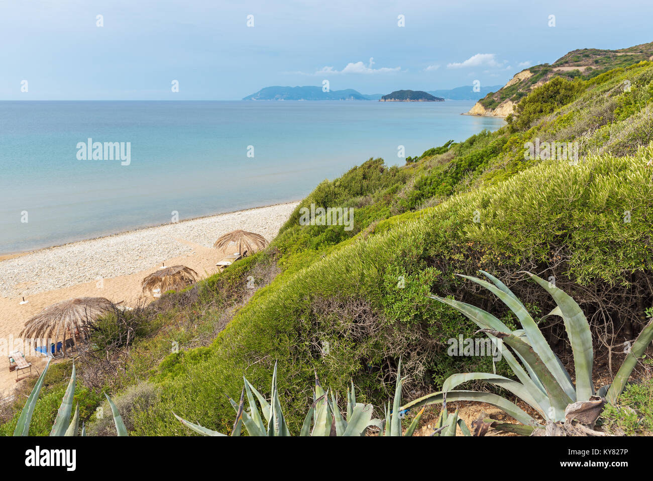
M537 353L544 365L547 367L547 369L549 369L552 376L554 376L554 378L558 381L558 384L560 384L565 393L567 393L569 399L573 399L576 396L576 390L574 389L573 384L567 380L569 374L565 373L564 369L562 369L558 361L556 361L556 356L553 354L549 343L546 339L544 339L544 336L539 330L539 327L537 327L537 323L535 323L530 314L528 314L528 310L524 308L524 305L518 301L515 301L511 295L503 292L498 287L490 284L489 282L486 282L485 280L472 276L466 276L463 274L458 275L485 287L494 293L494 295L496 295L499 299L501 299L501 301L515 313L515 316L517 316L519 319L522 327L524 328L524 331L526 331L528 340L530 340L530 345L532 346L535 353ZM507 329L503 332L510 331Z

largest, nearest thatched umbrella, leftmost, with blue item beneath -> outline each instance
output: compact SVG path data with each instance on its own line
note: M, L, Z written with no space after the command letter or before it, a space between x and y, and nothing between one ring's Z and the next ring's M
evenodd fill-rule
M112 310L114 305L104 297L78 297L44 308L37 316L25 323L20 335L24 339L51 339L57 344L66 339L75 339L75 333L84 323L95 320L100 314ZM48 346L48 350L50 346Z

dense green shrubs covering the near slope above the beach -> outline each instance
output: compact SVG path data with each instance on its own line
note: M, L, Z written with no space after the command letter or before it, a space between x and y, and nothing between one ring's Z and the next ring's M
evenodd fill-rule
M336 392L353 380L360 400L375 406L391 395L400 356L408 399L438 390L452 373L492 372L489 357L447 355L448 339L473 337L476 327L426 297L477 305L514 329L509 310L454 276L479 269L541 316L552 301L521 271L554 278L586 313L603 353L595 369L609 371L623 354L613 349L609 359L605 346L634 339L653 303L652 101L648 62L561 78L524 96L499 131L448 142L404 167L369 159L325 180L263 252L103 320L94 335L111 362L78 359L80 416L93 421L108 391L135 434L187 434L172 410L229 432L227 395L239 395L244 375L269 386L278 361L284 414L298 431L316 371ZM524 144L534 139L578 142L579 163L526 159ZM355 208L353 229L299 225L300 207L311 203ZM560 323L540 327L568 361ZM131 339L125 331L135 339L123 342ZM61 363L48 373L31 433L52 425L69 369ZM503 361L496 371L509 375ZM3 434L17 414L6 416ZM108 433L106 423L89 433Z

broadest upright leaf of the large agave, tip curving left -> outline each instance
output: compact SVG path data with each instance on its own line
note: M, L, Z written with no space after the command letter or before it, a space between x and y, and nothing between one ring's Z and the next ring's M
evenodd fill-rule
M576 374L576 397L573 401L588 401L594 393L592 383L592 366L594 365L594 351L592 350L592 333L590 325L583 314L581 307L564 291L556 288L550 282L530 274L532 279L542 286L558 305L551 314L558 314L565 323L565 330L569 337L573 351L574 371Z

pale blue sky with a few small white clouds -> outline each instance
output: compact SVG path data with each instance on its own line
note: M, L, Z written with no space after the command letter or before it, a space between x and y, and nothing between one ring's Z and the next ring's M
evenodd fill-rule
M651 18L650 0L0 0L0 100L500 85L569 50L653 41Z

